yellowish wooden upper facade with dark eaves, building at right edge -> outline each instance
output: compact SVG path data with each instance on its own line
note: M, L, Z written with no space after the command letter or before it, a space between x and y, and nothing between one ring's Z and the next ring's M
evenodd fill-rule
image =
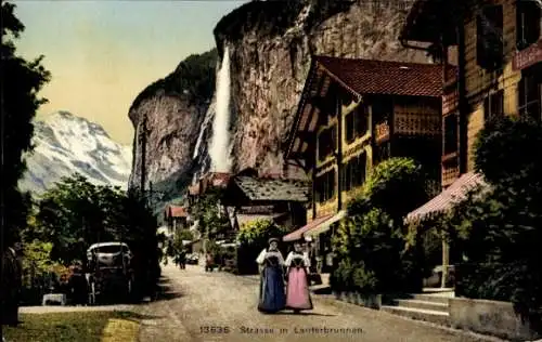
M417 1L401 41L430 43L440 51L443 75L442 186L474 169L474 144L486 120L528 115L541 120L542 35L537 1ZM455 13L455 15L450 15ZM431 34L427 34L431 32ZM450 51L456 51L452 56ZM453 60L456 60L452 62Z

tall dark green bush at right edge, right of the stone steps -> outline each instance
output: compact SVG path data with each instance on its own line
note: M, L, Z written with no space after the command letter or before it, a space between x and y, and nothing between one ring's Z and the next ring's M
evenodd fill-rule
M524 314L542 306L542 126L496 118L480 131L476 169L491 187L455 206L446 224L465 250L464 295L512 301Z

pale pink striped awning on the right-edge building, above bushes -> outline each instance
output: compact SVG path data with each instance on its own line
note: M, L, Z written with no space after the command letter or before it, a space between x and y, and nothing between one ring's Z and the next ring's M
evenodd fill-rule
M487 186L483 176L479 173L467 172L453 182L446 190L431 200L412 211L404 220L405 224L421 221L430 214L444 212L452 209L453 205L466 198L466 194L477 185Z

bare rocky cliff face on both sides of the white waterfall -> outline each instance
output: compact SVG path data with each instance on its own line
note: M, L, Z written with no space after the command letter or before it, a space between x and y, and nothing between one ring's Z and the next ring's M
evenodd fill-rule
M397 40L409 9L400 1L251 1L224 16L215 36L220 58L225 44L230 51L233 171L246 167L266 173L283 171L281 146L311 54L429 62L424 52L405 50ZM190 177L202 163L207 165L210 134L209 124L203 123L211 120L212 110L205 116L205 105L182 102L153 93L130 111L134 126L141 122L141 114L149 115L145 163L151 181L173 173ZM191 160L198 135L199 159ZM134 146L131 184L137 184L141 162L136 142Z

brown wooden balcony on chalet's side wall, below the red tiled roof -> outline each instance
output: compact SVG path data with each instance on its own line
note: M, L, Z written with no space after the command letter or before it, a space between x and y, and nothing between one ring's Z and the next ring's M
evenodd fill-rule
M442 127L437 115L425 113L398 113L393 118L393 134L441 135Z

